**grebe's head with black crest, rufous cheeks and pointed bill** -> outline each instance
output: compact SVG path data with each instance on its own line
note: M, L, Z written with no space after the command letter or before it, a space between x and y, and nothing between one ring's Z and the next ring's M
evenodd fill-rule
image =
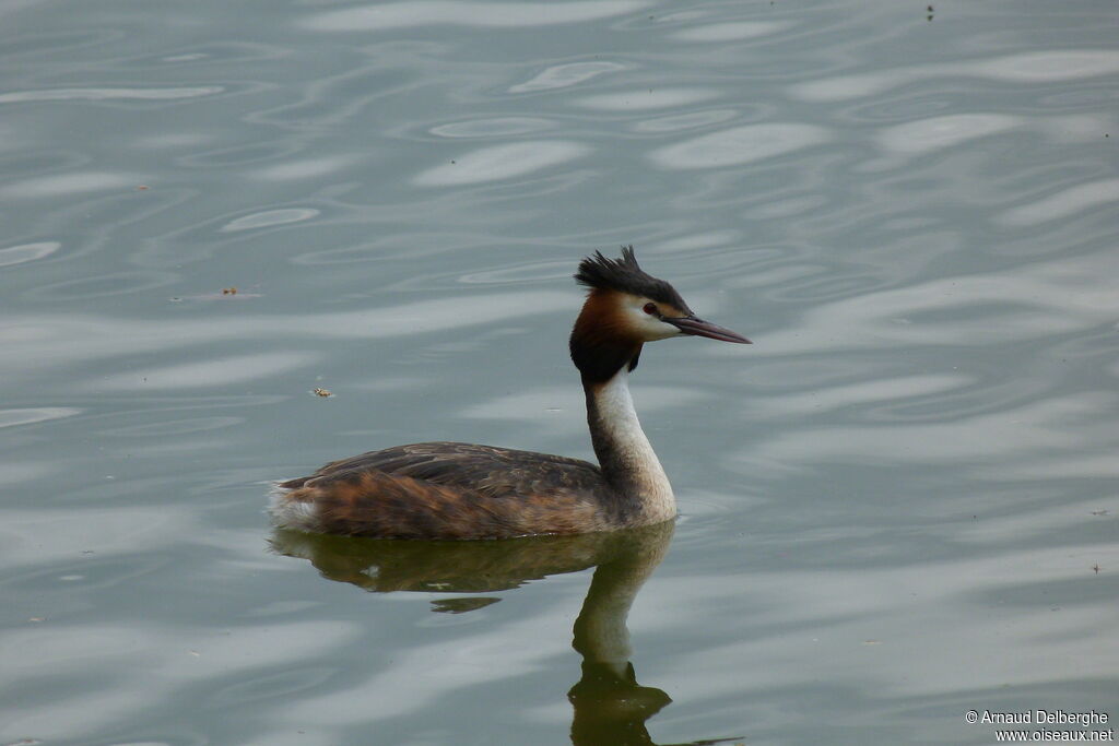
M590 289L571 332L571 357L587 381L605 381L637 367L641 346L673 337L707 337L749 344L745 337L696 318L676 289L638 266L632 246L610 259L595 252L575 280Z

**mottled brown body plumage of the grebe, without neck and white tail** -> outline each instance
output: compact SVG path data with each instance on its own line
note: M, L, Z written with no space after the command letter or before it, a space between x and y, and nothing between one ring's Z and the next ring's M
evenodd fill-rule
M329 533L490 539L613 527L598 466L469 443L374 451L279 487L290 490L282 500L314 507L312 525L292 528Z

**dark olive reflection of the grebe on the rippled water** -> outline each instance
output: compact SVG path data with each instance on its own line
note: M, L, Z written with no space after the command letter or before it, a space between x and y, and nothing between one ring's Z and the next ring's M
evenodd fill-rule
M629 746L653 743L645 721L673 701L660 689L637 682L626 620L641 585L665 557L674 528L666 521L623 531L504 541L394 541L276 529L272 548L311 560L331 580L378 593L486 594L594 567L574 626L572 646L583 657L583 676L567 692L574 708L571 739L576 746ZM498 601L455 596L434 601L432 607L461 614Z

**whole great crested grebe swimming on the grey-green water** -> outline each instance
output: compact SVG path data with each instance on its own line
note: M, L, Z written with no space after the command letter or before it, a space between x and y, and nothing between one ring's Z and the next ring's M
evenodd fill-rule
M416 443L333 461L276 484L278 526L386 539L499 539L647 526L676 516L665 470L629 393L641 346L670 337L750 343L697 319L679 293L646 274L632 246L584 258L590 289L571 332L599 466L470 443Z

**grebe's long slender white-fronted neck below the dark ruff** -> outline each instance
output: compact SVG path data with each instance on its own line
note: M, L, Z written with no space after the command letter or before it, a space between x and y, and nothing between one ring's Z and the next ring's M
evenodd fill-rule
M641 512L643 522L676 516L676 498L665 470L641 429L622 366L605 383L584 379L586 423L606 483Z

